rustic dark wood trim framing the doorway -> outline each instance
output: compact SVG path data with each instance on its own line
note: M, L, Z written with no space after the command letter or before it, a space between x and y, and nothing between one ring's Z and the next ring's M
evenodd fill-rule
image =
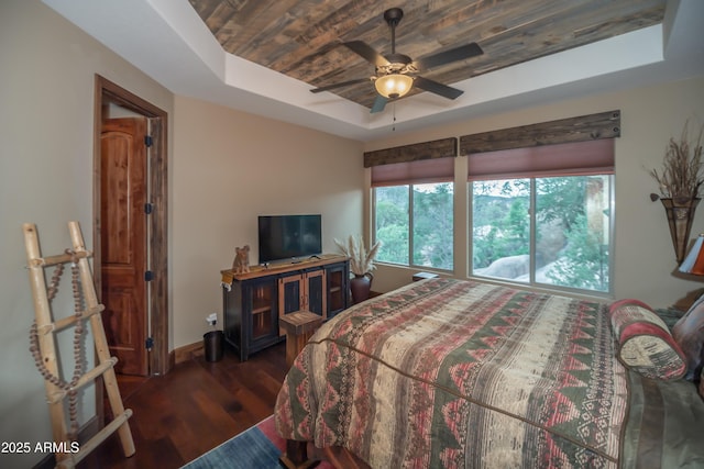
M119 104L130 111L144 115L150 123L152 147L147 165L150 166L150 192L153 212L147 219L148 238L147 256L150 269L153 272L150 298L150 336L153 348L148 353L148 375L164 375L169 369L168 360L168 186L167 186L167 146L166 132L168 114L112 81L96 75L94 109L94 279L96 291L102 291L101 281L101 249L100 243L100 132L103 115L110 103Z

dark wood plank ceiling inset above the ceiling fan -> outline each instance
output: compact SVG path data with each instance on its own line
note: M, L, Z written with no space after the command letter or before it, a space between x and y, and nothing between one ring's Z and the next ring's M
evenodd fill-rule
M384 11L400 7L396 52L418 59L476 42L484 54L424 70L451 85L662 22L667 0L189 0L224 51L319 87L372 77L340 44L391 53ZM374 86L333 91L370 108ZM416 91L417 92L417 91Z

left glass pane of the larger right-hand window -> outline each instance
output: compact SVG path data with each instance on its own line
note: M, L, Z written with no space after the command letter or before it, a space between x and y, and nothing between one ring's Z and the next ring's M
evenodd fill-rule
M472 273L530 281L530 179L472 182Z

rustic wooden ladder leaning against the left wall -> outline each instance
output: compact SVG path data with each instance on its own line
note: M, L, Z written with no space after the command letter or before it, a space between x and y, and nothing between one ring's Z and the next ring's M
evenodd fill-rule
M118 435L120 436L120 443L122 444L124 456L130 457L134 454L134 443L132 440L132 433L128 422L128 418L132 415L132 411L129 409L124 410L122 405L122 398L120 397L120 389L118 388L118 381L113 369L113 366L118 360L114 357L110 357L108 349L108 340L106 338L102 317L100 315L105 306L98 303L96 287L92 280L90 265L88 263L88 259L92 257L92 253L86 250L80 226L78 222L68 223L73 249L70 252L67 250L65 254L51 257L41 256L38 236L34 224L25 223L22 225L22 230L24 232L24 244L26 248L32 297L34 299L36 337L38 342L41 361L44 364L45 370L51 372L54 377L61 377L62 372L57 362L54 333L67 327L75 327L79 322L88 320L91 330L90 335L95 342L98 365L94 369L80 376L69 391L77 391L86 384L95 382L99 377L102 377L102 382L105 383L113 415L113 420L88 442L79 445L72 445L69 434L66 429L66 411L64 405L64 400L69 395L69 391L66 391L51 380L45 379L46 401L50 407L52 433L55 443L54 454L56 456L56 467L75 467L114 432L118 432ZM74 263L78 266L79 283L81 286L85 310L58 321L53 321L52 310L50 306L51 299L44 277L44 268ZM76 295L78 293L75 292L74 294ZM35 358L38 360L38 357Z

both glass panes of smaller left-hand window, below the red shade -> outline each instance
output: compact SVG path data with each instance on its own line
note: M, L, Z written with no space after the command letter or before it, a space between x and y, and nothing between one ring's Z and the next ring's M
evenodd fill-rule
M452 182L375 188L377 259L452 270L453 193Z

